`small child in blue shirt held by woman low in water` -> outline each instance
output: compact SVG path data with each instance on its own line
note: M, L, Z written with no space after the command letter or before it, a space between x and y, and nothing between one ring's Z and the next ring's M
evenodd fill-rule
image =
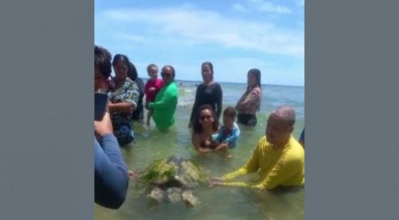
M223 123L219 128L214 140L219 142L215 150L229 149L237 147L238 137L240 136L240 128L236 124L237 111L233 107L227 107L223 111Z

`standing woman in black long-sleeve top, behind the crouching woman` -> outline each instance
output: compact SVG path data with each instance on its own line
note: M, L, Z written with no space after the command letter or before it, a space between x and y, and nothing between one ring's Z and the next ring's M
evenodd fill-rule
M213 81L213 65L211 62L203 62L201 65L203 83L197 87L196 99L191 111L189 127L193 126L194 117L200 106L208 104L216 112L216 120L219 121L222 113L222 88L219 83Z

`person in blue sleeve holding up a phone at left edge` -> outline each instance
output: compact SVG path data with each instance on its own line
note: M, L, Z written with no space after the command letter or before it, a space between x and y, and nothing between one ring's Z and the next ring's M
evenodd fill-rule
M95 92L106 88L106 79L111 73L111 55L101 47L94 49ZM112 134L109 112L101 121L94 122L94 201L118 209L126 198L129 172L123 161L116 137ZM99 141L98 141L99 140Z

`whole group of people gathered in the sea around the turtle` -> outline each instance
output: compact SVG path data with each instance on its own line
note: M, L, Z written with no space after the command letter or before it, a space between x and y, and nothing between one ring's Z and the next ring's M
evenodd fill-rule
M111 65L115 77L110 77ZM107 112L102 121L95 121L95 202L108 208L118 208L125 200L129 175L119 146L134 140L132 123L152 117L156 127L167 132L175 122L179 98L175 83L175 69L165 65L158 78L158 67L147 68L150 79L144 85L137 70L126 55L115 55L111 62L109 52L95 46L95 93L109 97ZM188 126L192 129L192 144L199 154L226 151L236 148L240 136L238 124L255 126L256 112L262 96L261 72L248 71L248 87L235 107L222 110L223 92L213 79L213 65L201 65L203 83L198 85ZM143 105L143 99L146 102ZM219 125L223 113L223 125ZM237 120L236 120L237 118ZM276 186L301 186L304 184L304 148L292 136L295 110L282 106L268 118L265 136L261 137L248 163L235 172L211 179L211 185L249 186L272 189ZM302 132L304 136L304 131ZM258 171L256 184L230 182L231 179ZM109 179L111 178L111 179ZM125 196L123 196L125 195Z

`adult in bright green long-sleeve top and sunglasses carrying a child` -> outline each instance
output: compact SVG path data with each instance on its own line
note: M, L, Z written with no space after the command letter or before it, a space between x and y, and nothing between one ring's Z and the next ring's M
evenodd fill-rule
M166 65L162 68L161 76L164 86L156 94L154 102L149 104L152 118L159 130L166 130L175 123L175 111L179 99L179 90L174 81L175 69Z

